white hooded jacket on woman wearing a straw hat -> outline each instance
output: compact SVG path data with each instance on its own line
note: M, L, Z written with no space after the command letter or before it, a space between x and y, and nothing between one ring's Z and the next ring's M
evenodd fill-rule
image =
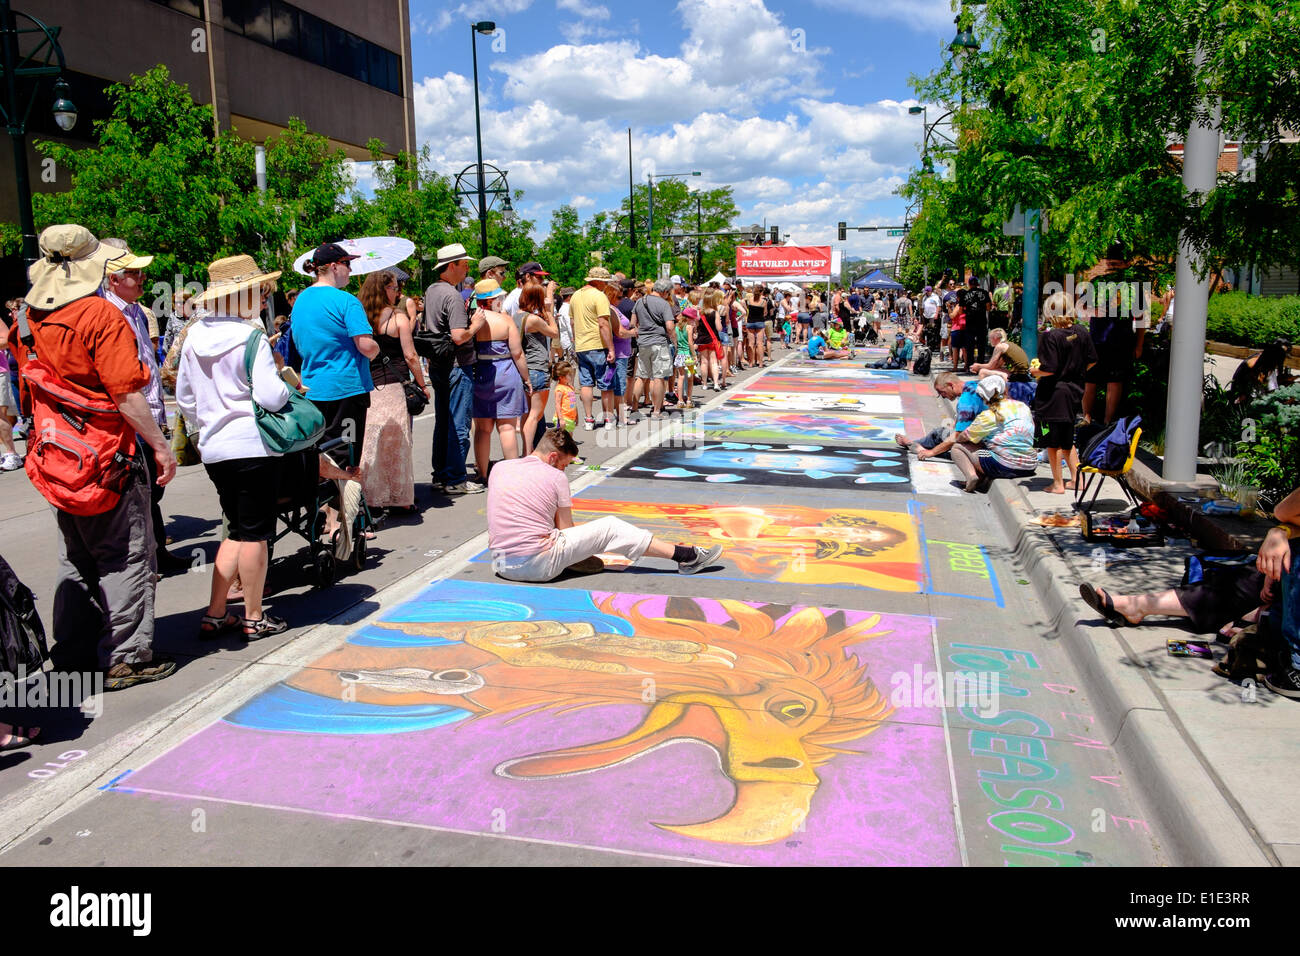
M252 403L280 411L289 402L289 386L276 371L265 337L252 364L252 386L244 371L244 349L254 326L230 316L205 316L185 339L176 373L176 403L199 428L199 454L204 462L269 458L278 453L261 441Z

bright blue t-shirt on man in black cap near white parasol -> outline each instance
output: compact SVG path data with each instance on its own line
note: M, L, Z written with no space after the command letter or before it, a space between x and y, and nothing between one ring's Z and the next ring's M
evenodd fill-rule
M303 289L290 323L294 349L303 356L303 385L312 401L335 402L374 390L370 363L352 336L374 330L355 295L333 286Z

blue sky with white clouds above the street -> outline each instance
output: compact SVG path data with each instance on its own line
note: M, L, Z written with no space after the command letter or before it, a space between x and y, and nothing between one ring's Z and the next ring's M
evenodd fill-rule
M525 190L542 238L550 213L585 217L638 182L699 169L731 185L741 222L826 243L835 224L896 224L893 190L916 163L909 74L952 39L949 0L411 0L416 127L439 172L474 161L468 23L478 38L484 160ZM850 233L849 255L892 258L897 239Z

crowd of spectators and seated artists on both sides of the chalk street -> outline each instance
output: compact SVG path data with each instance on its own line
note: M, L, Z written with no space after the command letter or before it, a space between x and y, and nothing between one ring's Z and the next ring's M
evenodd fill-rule
M354 535L376 533L358 524L363 501L376 515L419 511L413 420L430 403L433 492L488 492L502 578L598 570L602 553L662 558L692 574L720 549L662 541L615 518L575 524L563 471L581 460L580 420L586 431L634 424L642 410L660 420L693 407L697 388L722 392L740 371L770 364L774 350L852 359L857 346L881 342L888 323L889 354L868 364L910 369L931 349L952 362L933 386L956 403L957 420L900 434L901 446L919 459L949 455L967 492L1032 475L1046 460L1046 490L1063 494L1078 477L1075 428L1093 411L1089 390L1105 384L1109 421L1112 393L1131 375L1144 332L1138 320L1089 315L1058 294L1044 303L1031 362L1009 332L1019 312L1009 284L991 294L976 277L957 287L945 276L915 297L823 297L763 284L693 287L680 276L642 282L593 267L567 289L529 261L507 291L510 263L488 256L476 269L459 245L438 251L422 293L403 291L404 273L384 269L365 274L354 295L356 256L334 243L309 256L315 281L283 297L287 308L273 304L281 273L234 255L212 263L205 289L178 294L160 323L139 302L151 256L81 226L52 226L39 245L30 290L9 303L13 323L0 333L12 359L0 382L0 468L22 467L14 436L43 449L27 473L56 510L55 663L72 669L92 652L107 689L176 670L153 650L153 596L157 572L188 567L166 550L161 511L178 455L202 460L222 512L199 635L256 640L289 627L263 601L285 488L334 483L324 540L348 553ZM1284 346L1243 363L1234 389L1275 388L1286 376L1278 351ZM309 442L294 438L295 428ZM494 433L503 453L495 467ZM1086 593L1128 623L1195 615L1184 597ZM240 614L231 602L242 602Z

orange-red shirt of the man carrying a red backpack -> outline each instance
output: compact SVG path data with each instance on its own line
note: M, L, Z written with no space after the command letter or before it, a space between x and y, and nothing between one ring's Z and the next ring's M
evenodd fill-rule
M29 308L27 323L36 339L36 355L88 398L112 398L150 384L135 332L99 295L87 295L52 312ZM27 364L27 346L18 338L18 323L9 329L9 351L21 372Z

